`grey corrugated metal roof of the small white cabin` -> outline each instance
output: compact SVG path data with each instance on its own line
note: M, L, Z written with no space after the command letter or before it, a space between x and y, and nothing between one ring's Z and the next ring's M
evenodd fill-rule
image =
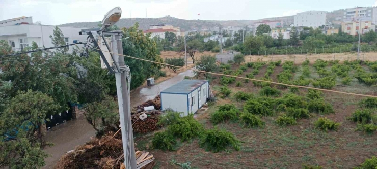
M180 93L189 94L199 86L208 82L207 80L182 80L179 83L161 91L161 93Z

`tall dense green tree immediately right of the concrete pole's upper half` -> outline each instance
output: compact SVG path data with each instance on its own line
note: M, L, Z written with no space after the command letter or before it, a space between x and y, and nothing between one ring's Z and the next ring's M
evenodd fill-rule
M155 62L163 62L158 55L156 43L150 39L151 33L145 36L143 31L139 30L138 23L130 28L123 28L122 30L124 32L123 37L129 37L128 39L122 39L124 55ZM131 70L131 90L142 85L147 78L156 76L161 69L160 64L128 57L124 58L124 62Z

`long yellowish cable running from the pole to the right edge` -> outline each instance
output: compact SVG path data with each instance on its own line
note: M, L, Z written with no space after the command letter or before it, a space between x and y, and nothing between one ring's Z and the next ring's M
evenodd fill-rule
M99 50L99 49L95 49L95 50ZM102 51L102 52L108 52L108 53L113 53L113 52L104 51L104 50L100 50L100 51ZM148 61L148 62L152 62L152 63L156 63L156 64L162 64L162 65L166 65L166 66L178 67L178 68L182 68L182 69L185 69L185 70L192 70L192 71L195 71L195 72L209 73L209 74L213 74L213 75L234 77L234 78L239 78L239 79L248 79L248 80L252 80L252 81L266 82L266 83L283 85L283 86L289 86L289 87L299 87L299 88L306 88L306 89L313 89L313 90L320 90L320 91L328 91L328 92L341 93L341 94L347 94L347 95L357 95L357 96L363 96L363 97L374 97L374 98L377 98L377 96L374 96L374 95L348 93L348 92L342 92L342 91L336 91L336 90L320 89L320 88L314 88L314 87L308 87L308 86L297 86L297 85L290 85L290 84L284 84L284 83L278 83L278 82L272 82L272 81L265 81L265 80L252 79L252 78L245 78L245 77L239 77L239 76L233 76L233 75L225 75L225 74L219 74L219 73L214 73L214 72L200 71L200 70L195 70L195 69L191 69L191 68L175 66L175 65L171 65L171 64L167 64L167 63L160 63L160 62L156 62L156 61L152 61L152 60L146 60L146 59L132 57L132 56L127 56L127 55L122 55L122 54L118 54L118 55L124 56L124 57L128 57L128 58L137 59L137 60Z

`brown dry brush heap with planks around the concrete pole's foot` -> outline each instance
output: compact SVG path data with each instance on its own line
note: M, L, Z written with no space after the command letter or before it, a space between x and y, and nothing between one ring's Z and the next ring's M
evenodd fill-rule
M119 169L124 167L122 140L113 138L113 134L110 132L101 139L92 138L85 145L78 146L75 150L69 151L60 158L54 168ZM156 164L153 155L149 154L149 152L137 151L135 155L137 157L138 168L153 168Z

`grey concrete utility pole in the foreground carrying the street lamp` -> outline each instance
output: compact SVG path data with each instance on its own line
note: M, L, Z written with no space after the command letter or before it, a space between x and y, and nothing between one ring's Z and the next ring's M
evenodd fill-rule
M116 30L116 32L121 32ZM126 168L137 168L136 157L135 157L135 148L133 143L133 132L132 132L132 122L131 122L131 104L130 104L130 95L129 95L129 86L127 82L130 82L130 79L127 81L127 73L130 76L130 72L127 72L127 67L124 64L124 57L119 56L118 54L123 55L123 47L121 41L122 35L112 35L112 44L113 44L113 57L116 61L114 64L118 64L119 71L115 72L115 80L117 85L117 95L118 95L118 107L120 115L120 126L122 132L122 141L123 141L123 153L124 160L127 161L125 164ZM129 71L129 69L128 69ZM129 77L130 78L130 77Z

